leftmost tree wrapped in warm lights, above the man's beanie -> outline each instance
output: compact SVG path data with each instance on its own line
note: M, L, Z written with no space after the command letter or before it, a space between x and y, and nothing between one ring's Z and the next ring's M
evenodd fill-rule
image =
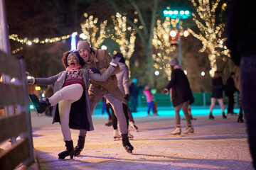
M106 34L107 20L100 23L100 32L99 26L97 26L98 18L93 18L87 13L84 13L86 20L81 23L82 33L86 35L86 39L90 42L93 48L99 48L105 38L108 38L109 35Z

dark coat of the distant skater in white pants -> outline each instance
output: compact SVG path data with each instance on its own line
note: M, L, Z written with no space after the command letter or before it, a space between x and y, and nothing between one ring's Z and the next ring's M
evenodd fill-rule
M212 80L212 98L223 98L223 81L221 77Z

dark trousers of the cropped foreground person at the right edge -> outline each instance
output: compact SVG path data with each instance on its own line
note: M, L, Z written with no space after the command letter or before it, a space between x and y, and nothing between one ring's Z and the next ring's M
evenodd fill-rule
M247 125L248 143L256 169L256 55L242 57L240 62L240 84L242 108Z

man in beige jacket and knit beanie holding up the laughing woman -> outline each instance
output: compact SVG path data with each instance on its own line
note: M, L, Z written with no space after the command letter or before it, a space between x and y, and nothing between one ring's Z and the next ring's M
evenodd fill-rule
M106 50L93 49L90 47L90 43L86 40L78 41L78 52L85 61L85 68L89 70L95 68L100 70L101 73L105 72L112 60L112 57L107 53ZM93 111L95 110L95 106L104 96L107 101L110 102L112 108L114 109L114 114L116 114L119 121L119 128L122 134L122 145L127 152L132 153L134 147L132 147L129 142L127 122L122 109L123 95L117 86L117 77L115 75L120 71L120 69L118 64L116 64L116 66L116 69L106 81L93 81L90 79L90 87L88 91L90 112L92 115Z

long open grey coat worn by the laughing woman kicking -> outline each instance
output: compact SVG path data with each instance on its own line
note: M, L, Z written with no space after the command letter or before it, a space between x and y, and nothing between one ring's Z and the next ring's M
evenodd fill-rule
M114 71L114 67L109 67L104 74L92 74L87 72L87 69L80 69L82 71L82 77L85 81L85 89L83 91L82 97L71 104L70 108L70 121L69 127L71 129L85 129L87 131L94 130L92 125L92 115L90 114L89 107L89 94L87 91L89 79L95 81L105 81L110 74ZM62 89L65 83L65 78L67 71L60 72L59 74L48 77L48 78L36 78L36 84L38 85L50 85L54 84L53 92ZM60 114L58 111L58 104L53 106L53 123L60 123Z

